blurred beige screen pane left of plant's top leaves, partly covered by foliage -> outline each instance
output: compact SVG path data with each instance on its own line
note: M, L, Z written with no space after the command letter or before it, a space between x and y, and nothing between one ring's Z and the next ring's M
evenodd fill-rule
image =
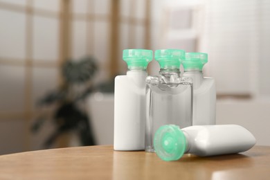
M46 94L57 88L57 68L33 68L32 105L37 109L37 101L44 98Z

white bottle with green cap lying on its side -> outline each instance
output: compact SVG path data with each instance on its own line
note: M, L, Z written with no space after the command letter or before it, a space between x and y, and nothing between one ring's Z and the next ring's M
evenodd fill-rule
M176 161L184 153L215 156L244 152L255 143L253 134L240 125L197 125L183 129L164 125L154 136L156 154L164 161Z

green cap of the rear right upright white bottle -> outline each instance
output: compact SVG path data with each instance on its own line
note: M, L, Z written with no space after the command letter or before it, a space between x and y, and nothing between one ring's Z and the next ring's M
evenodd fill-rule
M183 69L199 69L202 70L204 64L208 62L208 55L206 53L186 53L186 60L183 60Z

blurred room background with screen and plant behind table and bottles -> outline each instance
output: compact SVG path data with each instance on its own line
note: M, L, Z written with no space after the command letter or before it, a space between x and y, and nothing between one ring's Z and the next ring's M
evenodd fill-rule
M125 48L208 53L217 124L242 125L270 145L270 1L0 0L0 24L0 154L113 144L114 77L127 71ZM82 72L85 58L93 74L80 83L64 76L68 62L73 76ZM65 121L69 109L59 115L66 102L84 123ZM93 142L77 136L84 130Z

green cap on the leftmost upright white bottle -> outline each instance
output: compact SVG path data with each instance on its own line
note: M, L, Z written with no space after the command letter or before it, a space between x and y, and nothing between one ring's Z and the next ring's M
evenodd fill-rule
M146 69L147 65L153 59L153 51L147 49L125 49L123 51L123 60L127 62L127 68Z

